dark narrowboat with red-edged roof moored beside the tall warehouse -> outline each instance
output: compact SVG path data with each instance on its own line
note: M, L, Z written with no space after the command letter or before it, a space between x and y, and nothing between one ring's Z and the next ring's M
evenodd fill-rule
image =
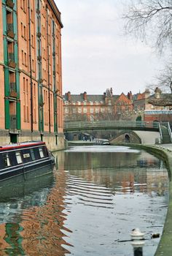
M22 177L28 180L50 173L55 166L55 159L42 141L0 146L0 187L1 181Z

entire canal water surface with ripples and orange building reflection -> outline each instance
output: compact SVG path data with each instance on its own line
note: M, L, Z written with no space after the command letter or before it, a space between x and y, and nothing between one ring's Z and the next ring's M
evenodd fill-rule
M55 153L52 174L0 191L0 255L131 256L131 231L153 256L168 206L162 160L124 146Z

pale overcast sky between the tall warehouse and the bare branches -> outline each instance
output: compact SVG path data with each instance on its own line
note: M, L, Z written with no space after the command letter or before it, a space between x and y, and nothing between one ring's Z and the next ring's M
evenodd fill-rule
M128 1L128 0L123 0ZM162 61L124 35L121 0L56 0L61 12L63 94L143 92Z

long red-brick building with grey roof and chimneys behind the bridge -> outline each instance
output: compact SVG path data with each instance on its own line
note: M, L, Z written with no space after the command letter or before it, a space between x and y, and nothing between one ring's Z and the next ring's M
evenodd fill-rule
M113 95L112 88L102 95L71 94L63 95L63 115L65 121L129 120L133 115L131 92Z

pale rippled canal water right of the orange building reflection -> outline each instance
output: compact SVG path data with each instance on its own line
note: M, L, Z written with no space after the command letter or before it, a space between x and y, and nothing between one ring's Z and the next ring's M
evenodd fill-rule
M72 255L133 255L130 243L119 241L135 227L148 238L144 255L155 254L158 239L149 238L162 233L168 205L168 172L160 159L126 147L74 147L65 153L64 169Z

